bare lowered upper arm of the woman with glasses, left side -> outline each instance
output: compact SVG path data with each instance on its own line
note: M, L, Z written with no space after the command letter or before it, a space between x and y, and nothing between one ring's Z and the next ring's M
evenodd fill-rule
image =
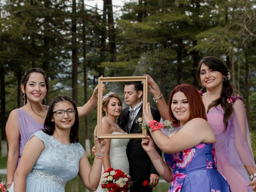
M19 166L14 174L14 192L26 192L26 176L32 170L42 150L44 150L44 142L33 136L26 143Z

